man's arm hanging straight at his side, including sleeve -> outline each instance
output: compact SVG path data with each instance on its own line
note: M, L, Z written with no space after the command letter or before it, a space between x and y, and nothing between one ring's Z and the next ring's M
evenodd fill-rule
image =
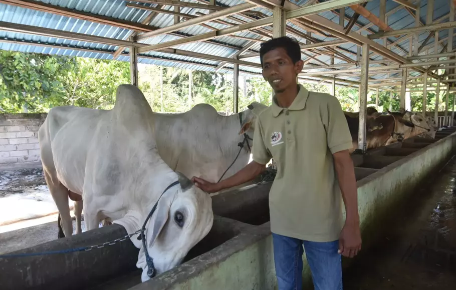
M352 138L344 112L336 97L330 98L325 113L327 113L325 119L328 146L334 157L334 167L346 212L345 224L339 237L339 252L344 256L353 257L361 249L361 233L355 168L348 151L352 147Z

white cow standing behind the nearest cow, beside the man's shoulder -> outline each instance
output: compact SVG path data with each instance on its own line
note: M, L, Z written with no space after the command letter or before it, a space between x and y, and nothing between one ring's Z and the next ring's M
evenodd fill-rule
M255 120L265 108L253 102L245 111L223 116L201 103L179 114L154 112L158 153L168 166L188 178L200 176L216 182L241 150L222 179L230 177L249 163ZM240 149L238 144L243 141Z

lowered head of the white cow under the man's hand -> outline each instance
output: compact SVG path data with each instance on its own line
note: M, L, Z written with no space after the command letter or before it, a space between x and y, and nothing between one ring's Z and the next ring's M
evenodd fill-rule
M157 274L180 264L188 251L207 235L213 222L209 194L196 187L182 173L176 173L179 184L161 196L146 226L146 246ZM141 280L148 280L148 266L142 246L136 266L143 269Z

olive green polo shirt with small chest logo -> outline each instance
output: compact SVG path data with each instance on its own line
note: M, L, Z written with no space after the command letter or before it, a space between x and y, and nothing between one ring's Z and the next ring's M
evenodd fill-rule
M339 100L299 92L288 108L275 96L258 116L253 160L277 163L269 195L271 231L310 241L333 241L343 227L343 200L332 153L352 147Z

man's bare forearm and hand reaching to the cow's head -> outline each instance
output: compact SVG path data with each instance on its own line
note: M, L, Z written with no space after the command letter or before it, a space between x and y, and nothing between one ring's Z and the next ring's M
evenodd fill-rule
M208 193L212 193L250 181L254 179L258 174L262 173L265 169L265 164L260 164L256 161L252 161L249 164L247 164L244 168L236 172L234 175L224 180L221 180L218 183L212 183L199 177L193 177L191 178L191 180L195 183L196 186L198 186L202 190Z

